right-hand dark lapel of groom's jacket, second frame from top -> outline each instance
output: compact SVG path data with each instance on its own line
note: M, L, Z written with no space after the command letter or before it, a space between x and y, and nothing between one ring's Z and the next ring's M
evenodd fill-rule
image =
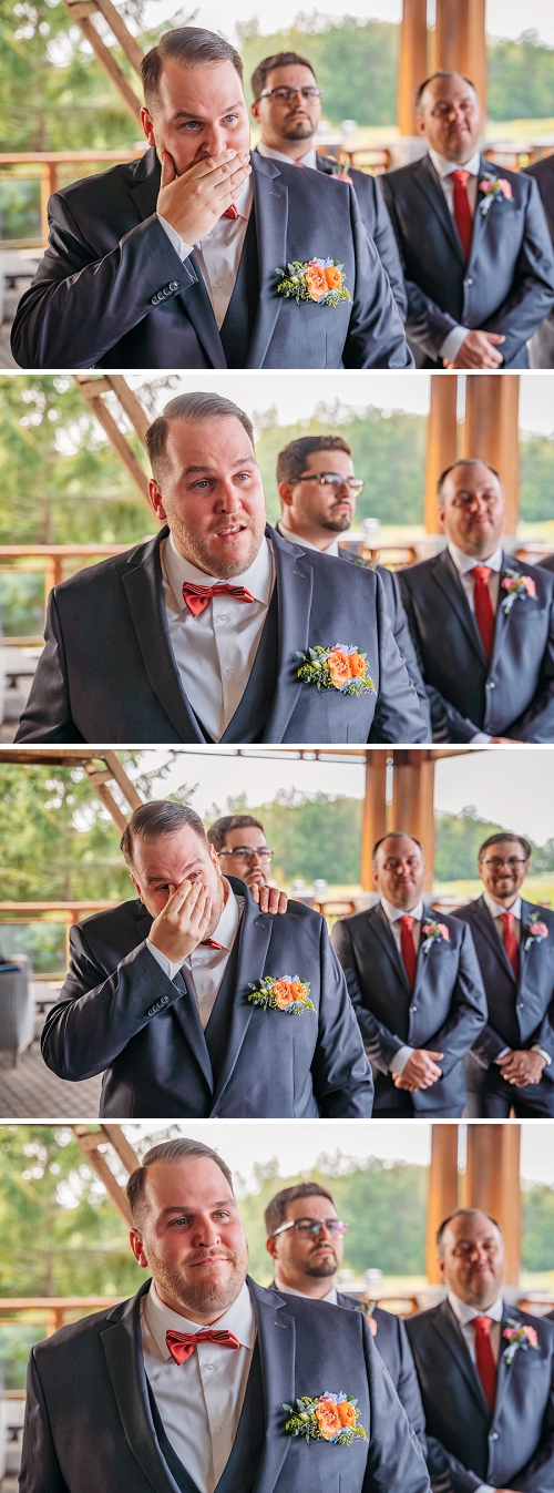
M266 530L273 543L278 608L278 682L269 712L264 739L281 742L300 691L309 688L297 678L299 652L308 651L309 617L312 608L314 567L308 555L296 552L288 539L281 539L275 529ZM326 639L321 639L326 642Z

